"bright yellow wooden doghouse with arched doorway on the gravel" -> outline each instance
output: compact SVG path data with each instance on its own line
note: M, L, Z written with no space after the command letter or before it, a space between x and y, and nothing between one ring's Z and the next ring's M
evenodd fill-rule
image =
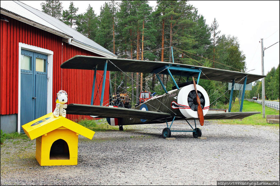
M36 159L41 166L77 165L78 135L92 139L94 131L53 113L22 126L26 135L36 138Z

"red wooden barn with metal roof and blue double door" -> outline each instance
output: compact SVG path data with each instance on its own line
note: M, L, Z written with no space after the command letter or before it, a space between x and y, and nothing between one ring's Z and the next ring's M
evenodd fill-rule
M68 93L68 104L90 104L94 70L60 68L75 55L116 57L50 15L19 1L1 1L2 131L22 132L21 125L53 112L59 90ZM97 71L97 85L102 75ZM107 73L105 104L109 77ZM97 91L94 104L99 105ZM67 115L71 120L85 117Z

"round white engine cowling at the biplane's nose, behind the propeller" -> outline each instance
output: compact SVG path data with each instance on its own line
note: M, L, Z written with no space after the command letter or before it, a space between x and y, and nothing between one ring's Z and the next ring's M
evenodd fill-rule
M207 92L200 85L197 86L197 92L201 100L201 107L203 111L203 116L209 110L209 96ZM186 118L197 118L197 102L196 93L193 84L184 86L178 93L178 106L180 112Z

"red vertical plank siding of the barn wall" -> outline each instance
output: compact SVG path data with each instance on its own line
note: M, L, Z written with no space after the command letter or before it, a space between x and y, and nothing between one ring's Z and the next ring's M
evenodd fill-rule
M59 90L68 93L68 104L90 104L93 85L93 70L61 69L60 64L75 55L100 56L90 51L62 42L62 38L37 29L13 18L5 17L9 22L1 21L1 113L15 114L18 112L18 43L45 48L54 52L53 55L53 109L55 97ZM63 43L63 45L62 45ZM109 72L106 74L104 104L109 103ZM100 104L103 71L97 71L96 88L97 95L94 104ZM100 83L101 81L101 83ZM99 91L97 90L98 85ZM99 92L99 94L98 94ZM21 98L22 99L22 98ZM71 120L91 117L81 115L67 115Z

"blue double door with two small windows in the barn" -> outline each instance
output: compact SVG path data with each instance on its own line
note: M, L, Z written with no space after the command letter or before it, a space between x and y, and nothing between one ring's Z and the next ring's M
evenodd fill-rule
M21 49L21 126L47 114L47 57Z

